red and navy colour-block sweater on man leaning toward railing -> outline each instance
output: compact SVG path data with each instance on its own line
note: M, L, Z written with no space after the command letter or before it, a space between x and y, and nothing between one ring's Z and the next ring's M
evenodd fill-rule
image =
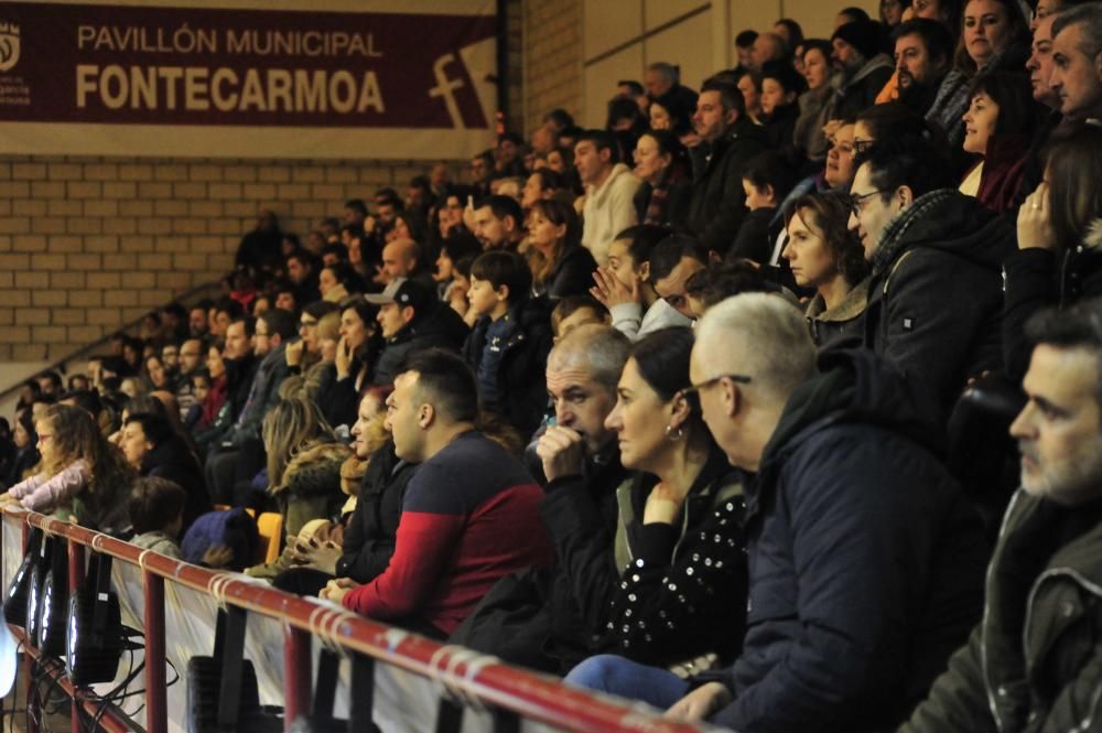
M410 481L390 565L344 605L372 618L425 621L450 635L504 575L554 562L542 498L497 443L474 431L460 435Z

